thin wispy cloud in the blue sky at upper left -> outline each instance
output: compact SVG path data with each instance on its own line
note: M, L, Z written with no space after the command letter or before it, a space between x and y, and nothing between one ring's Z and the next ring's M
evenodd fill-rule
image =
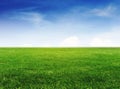
M18 12L9 17L11 20L24 21L33 25L44 23L44 15L37 12Z

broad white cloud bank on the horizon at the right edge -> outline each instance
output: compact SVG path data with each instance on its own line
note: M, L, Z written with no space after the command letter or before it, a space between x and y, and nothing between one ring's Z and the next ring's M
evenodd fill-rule
M120 27L112 28L111 31L99 34L91 39L90 46L95 47L120 47Z

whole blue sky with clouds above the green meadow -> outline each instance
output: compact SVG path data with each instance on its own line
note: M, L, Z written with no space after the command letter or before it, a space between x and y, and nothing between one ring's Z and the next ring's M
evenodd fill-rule
M1 47L118 47L119 0L0 0Z

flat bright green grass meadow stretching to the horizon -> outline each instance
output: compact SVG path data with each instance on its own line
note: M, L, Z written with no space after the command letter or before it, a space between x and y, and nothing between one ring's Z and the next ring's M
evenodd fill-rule
M0 48L0 89L120 89L120 48Z

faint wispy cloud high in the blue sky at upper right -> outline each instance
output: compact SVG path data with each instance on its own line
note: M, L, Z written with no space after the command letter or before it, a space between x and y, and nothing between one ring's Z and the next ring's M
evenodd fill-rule
M105 8L95 8L91 10L90 13L96 16L111 17L115 10L116 8L114 6L109 5Z

